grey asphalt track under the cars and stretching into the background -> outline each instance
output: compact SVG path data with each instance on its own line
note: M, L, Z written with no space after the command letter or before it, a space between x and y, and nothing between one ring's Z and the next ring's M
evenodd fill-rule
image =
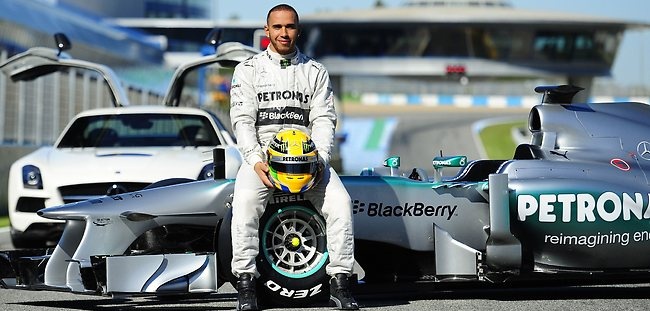
M472 124L476 120L514 116L527 111L454 110L443 108L353 107L350 115L399 117L392 137L391 153L400 154L402 166L427 168L433 155L480 156L474 143ZM447 152L448 151L448 152ZM11 249L8 232L0 229L0 249ZM648 310L650 283L568 286L527 283L516 287L437 284L400 292L399 288L355 289L363 310ZM155 297L113 299L68 292L0 289L0 310L235 310L232 287L223 293L182 300ZM309 308L274 307L269 310L331 310L326 303Z

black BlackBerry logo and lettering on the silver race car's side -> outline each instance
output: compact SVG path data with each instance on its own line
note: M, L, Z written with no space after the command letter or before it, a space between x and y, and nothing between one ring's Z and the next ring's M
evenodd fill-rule
M457 216L457 205L429 205L422 202L388 204L384 202L361 202L352 200L352 213L369 217L444 217Z

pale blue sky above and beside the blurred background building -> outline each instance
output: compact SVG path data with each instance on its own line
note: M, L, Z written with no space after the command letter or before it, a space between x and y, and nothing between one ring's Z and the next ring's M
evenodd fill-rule
M237 16L242 20L261 23L268 10L278 3L292 5L299 14L345 9L364 9L376 0L225 0L214 1L213 15L225 20ZM406 0L382 0L387 7L398 7ZM642 22L650 26L650 1L648 0L510 0L515 8L561 11L610 17L624 21ZM612 79L624 86L650 87L650 27L642 31L628 31L619 46L612 67Z

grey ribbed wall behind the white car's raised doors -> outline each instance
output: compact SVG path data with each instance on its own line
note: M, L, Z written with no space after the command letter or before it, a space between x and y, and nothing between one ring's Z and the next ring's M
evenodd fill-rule
M6 59L7 52L0 52L0 61ZM162 94L124 87L132 105L162 103ZM0 142L20 146L52 144L77 113L112 106L108 87L91 71L70 70L18 82L0 74Z

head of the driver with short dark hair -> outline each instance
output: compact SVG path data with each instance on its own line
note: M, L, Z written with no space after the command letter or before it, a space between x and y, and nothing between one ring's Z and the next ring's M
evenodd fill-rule
M298 20L291 11L281 10L271 12L264 26L266 36L271 40L271 51L280 54L289 54L296 49Z

